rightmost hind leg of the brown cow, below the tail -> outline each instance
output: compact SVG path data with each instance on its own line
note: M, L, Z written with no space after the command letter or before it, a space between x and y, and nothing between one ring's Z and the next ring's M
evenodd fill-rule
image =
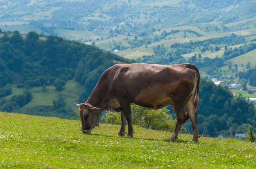
M192 141L198 141L198 138L200 138L200 135L198 135L198 126L197 126L197 111L194 106L193 99L188 101L185 105L186 110L188 112L189 118L192 122L193 126L193 140Z

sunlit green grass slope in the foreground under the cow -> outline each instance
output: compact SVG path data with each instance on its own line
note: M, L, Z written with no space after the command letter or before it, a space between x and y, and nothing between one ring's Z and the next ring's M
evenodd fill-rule
M0 112L0 168L255 168L255 143L134 127L119 138L119 125L100 124L82 134L81 122Z

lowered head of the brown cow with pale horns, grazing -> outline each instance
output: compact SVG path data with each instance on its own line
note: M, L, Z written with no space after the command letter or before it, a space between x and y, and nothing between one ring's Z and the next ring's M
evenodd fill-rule
M82 121L82 131L83 133L90 133L91 130L98 124L99 115L99 108L93 107L89 103L81 103L75 104L79 107L79 115Z

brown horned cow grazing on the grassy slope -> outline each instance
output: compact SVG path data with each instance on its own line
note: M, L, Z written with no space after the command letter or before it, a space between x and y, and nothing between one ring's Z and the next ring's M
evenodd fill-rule
M85 103L79 106L82 131L90 133L97 125L102 111L121 111L119 136L133 137L131 104L160 109L172 105L177 124L171 139L178 136L180 127L189 118L193 126L193 141L198 141L197 108L200 76L192 64L117 64L105 70ZM187 113L185 114L184 107Z

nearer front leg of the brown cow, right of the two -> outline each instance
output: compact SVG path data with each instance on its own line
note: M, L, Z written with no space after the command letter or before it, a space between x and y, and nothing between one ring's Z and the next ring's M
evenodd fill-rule
M132 126L132 117L131 117L131 103L130 102L120 102L122 110L124 111L125 118L128 123L128 138L132 138L134 134L133 126Z

